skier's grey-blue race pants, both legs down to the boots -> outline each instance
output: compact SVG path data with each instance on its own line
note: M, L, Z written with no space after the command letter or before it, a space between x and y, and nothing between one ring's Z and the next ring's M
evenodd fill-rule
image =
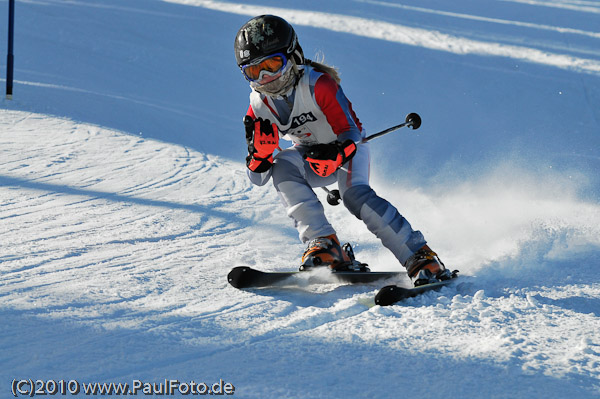
M337 182L346 208L366 224L401 264L425 245L421 232L413 230L398 210L369 186L367 143L359 144L356 155L327 177L316 175L304 161L302 154L306 148L298 145L281 151L271 168L275 189L302 242L335 233L313 188Z

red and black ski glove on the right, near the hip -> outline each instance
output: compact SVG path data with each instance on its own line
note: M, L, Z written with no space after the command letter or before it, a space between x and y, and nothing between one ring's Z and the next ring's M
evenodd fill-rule
M304 159L311 169L321 177L334 173L340 166L348 162L356 154L356 143L346 140L330 144L315 144L304 153Z

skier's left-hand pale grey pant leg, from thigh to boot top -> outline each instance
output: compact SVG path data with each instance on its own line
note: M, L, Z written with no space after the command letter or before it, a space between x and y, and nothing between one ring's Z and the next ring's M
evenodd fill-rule
M312 187L335 182L335 175L317 176L302 158L298 147L288 148L275 156L272 167L273 185L279 193L287 215L294 220L302 242L335 234L325 217L323 205Z

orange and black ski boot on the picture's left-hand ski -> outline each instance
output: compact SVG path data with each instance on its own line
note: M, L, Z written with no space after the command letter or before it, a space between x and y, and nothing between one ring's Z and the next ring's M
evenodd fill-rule
M332 271L369 271L366 264L354 259L350 244L340 246L335 234L311 240L302 255L300 271L321 266L327 266Z

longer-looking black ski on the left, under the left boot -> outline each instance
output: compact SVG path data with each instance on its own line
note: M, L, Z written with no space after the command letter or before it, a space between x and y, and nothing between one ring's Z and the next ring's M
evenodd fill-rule
M249 266L234 267L227 275L227 281L235 288L262 288L271 286L299 286L311 284L350 283L367 284L386 280L404 272L361 272L361 271L290 271L265 272Z

